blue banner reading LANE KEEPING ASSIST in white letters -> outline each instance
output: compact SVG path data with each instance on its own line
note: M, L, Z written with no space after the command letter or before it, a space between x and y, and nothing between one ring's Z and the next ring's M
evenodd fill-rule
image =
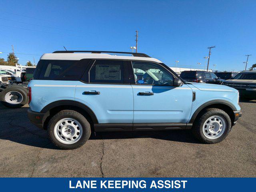
M0 178L1 191L255 191L256 178Z

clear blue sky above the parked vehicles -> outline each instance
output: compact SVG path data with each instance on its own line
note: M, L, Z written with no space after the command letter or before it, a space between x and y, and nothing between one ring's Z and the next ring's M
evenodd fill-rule
M1 0L0 58L37 63L56 50L138 52L168 66L244 70L256 63L255 0ZM22 54L18 54L22 53Z

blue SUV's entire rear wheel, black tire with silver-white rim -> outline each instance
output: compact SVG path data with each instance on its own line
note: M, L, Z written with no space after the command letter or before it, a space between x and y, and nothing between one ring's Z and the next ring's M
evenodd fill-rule
M81 147L90 137L90 123L73 110L63 110L54 115L48 123L50 140L62 149Z

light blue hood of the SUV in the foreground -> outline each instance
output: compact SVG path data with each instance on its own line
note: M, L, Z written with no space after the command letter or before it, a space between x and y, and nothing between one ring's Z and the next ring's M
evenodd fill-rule
M201 91L226 91L226 92L238 92L238 90L228 87L225 85L217 85L217 84L206 84L206 83L192 83L188 82L188 86L190 88L198 88Z

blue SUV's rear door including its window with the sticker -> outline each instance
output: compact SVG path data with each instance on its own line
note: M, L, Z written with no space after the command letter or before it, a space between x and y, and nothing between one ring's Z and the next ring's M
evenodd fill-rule
M94 60L76 86L75 101L88 106L105 130L132 130L133 94L127 67L122 60Z

